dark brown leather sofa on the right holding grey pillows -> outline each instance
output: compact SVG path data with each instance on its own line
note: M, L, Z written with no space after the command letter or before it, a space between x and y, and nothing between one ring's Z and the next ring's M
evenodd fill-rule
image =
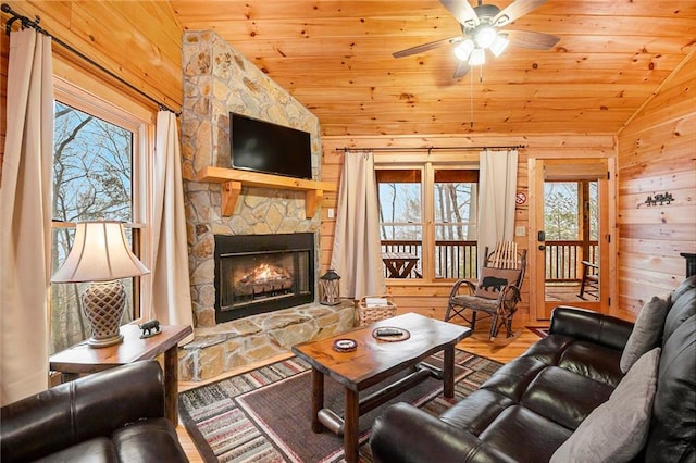
M644 411L649 420L644 427L647 438L629 460L696 462L696 276L672 292L664 305L669 312L661 318L661 339L660 330L655 330L657 347L661 346L657 379L655 374L651 378L657 388L651 408ZM548 337L439 417L406 403L386 409L373 426L374 460L549 461L593 410L609 402L624 376L620 359L632 329L633 324L614 317L557 308ZM621 402L621 397L617 399ZM621 428L623 416L618 421L614 427Z

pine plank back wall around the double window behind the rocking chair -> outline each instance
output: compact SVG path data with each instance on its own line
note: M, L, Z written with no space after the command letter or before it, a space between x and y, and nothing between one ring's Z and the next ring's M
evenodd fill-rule
M527 160L529 159L558 159L558 158L613 158L616 155L616 140L613 135L482 135L482 136L384 136L384 137L324 137L322 139L322 180L339 184L340 172L344 162L344 152L336 148L413 148L413 147L467 147L467 146L513 146L525 145L520 150L518 165L518 191L527 196L524 205L518 205L515 226L523 226L525 236L517 237L520 248L530 247L529 205L532 204L532 195L529 191ZM394 157L394 153L376 153L376 157ZM327 195L322 202L321 250L322 271L331 263L331 254L334 242L335 218L328 217L328 210L336 209L338 193ZM534 232L535 233L535 232ZM527 267L525 283L522 287L522 302L520 312L514 317L514 324L519 325L534 318L530 315L530 275L534 268ZM447 296L451 289L451 281L444 284L423 285L418 280L405 280L398 284L389 283L388 292L395 297L398 311L418 312L426 316L442 320L447 309Z

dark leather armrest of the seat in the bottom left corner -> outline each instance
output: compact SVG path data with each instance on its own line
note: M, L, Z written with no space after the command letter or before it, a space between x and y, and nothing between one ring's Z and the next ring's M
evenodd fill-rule
M164 416L164 380L154 360L96 373L0 409L0 460L36 460Z

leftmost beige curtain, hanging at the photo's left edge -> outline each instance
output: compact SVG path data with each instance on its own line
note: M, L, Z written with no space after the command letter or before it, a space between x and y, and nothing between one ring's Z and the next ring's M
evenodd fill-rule
M53 170L51 38L13 32L0 186L0 403L48 387Z

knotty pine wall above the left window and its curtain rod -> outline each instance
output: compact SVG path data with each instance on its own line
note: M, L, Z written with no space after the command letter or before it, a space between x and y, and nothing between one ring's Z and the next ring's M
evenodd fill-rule
M156 100L178 111L182 105L182 28L174 18L171 5L163 1L8 1L12 10L34 18L40 26L79 50L127 83ZM2 13L0 40L0 146L4 146L7 132L7 75L9 37L4 24L10 16ZM15 28L17 25L15 24ZM115 89L123 84L76 59L63 48L53 45L54 74L87 91L95 75ZM133 98L144 100L133 90ZM97 93L97 91L95 91ZM147 100L144 100L147 101ZM154 103L153 109L157 109ZM1 158L0 158L1 165ZM1 171L0 171L1 178Z

